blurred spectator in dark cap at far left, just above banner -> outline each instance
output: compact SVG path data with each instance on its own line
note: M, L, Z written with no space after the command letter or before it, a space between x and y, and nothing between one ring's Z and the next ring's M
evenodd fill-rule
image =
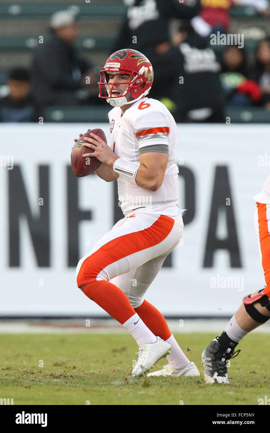
M0 122L38 122L40 110L30 93L30 76L14 68L7 80L9 94L0 99Z

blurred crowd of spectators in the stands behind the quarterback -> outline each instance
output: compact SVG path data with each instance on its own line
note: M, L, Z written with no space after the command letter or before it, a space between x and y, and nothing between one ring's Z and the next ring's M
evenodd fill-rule
M177 122L223 122L226 105L270 110L270 37L257 42L253 58L242 45L217 51L210 44L211 35L230 32L231 6L252 5L269 16L267 0L124 3L127 13L108 54L121 48L143 52L154 69L150 97L165 103ZM51 17L50 36L39 44L29 70L10 70L9 93L0 99L1 122L37 122L47 106L103 103L97 86L100 65L75 48L78 26L71 11Z

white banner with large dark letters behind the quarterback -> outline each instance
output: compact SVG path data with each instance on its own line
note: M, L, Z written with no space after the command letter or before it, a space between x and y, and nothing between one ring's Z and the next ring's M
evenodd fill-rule
M0 316L105 315L77 288L78 259L120 219L115 182L76 178L73 139L108 124L0 125ZM167 316L231 315L263 288L255 201L270 126L179 125L185 228L147 291Z

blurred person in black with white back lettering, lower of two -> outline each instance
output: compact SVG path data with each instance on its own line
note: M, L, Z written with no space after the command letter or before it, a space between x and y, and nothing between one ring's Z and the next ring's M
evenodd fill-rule
M179 55L178 75L170 99L176 122L221 123L225 121L224 95L219 80L221 69L207 39L199 36L190 22L182 22L173 36Z

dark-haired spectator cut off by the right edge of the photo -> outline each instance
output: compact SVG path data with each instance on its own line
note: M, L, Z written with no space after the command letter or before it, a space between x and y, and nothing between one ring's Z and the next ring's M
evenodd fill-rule
M257 47L255 79L262 90L262 105L270 110L270 37L260 41Z

